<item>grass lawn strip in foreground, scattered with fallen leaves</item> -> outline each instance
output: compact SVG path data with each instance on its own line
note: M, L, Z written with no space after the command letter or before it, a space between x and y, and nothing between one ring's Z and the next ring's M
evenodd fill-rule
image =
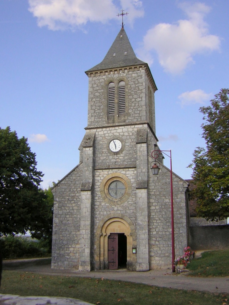
M0 293L21 296L58 296L99 305L217 305L229 304L229 295L160 288L122 281L71 276L43 276L3 271Z

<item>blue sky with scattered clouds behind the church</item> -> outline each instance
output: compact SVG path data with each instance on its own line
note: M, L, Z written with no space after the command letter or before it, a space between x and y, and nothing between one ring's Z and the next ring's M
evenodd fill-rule
M84 71L104 59L122 9L130 44L158 88L158 145L172 151L173 171L191 178L194 149L205 146L199 108L229 87L228 0L0 0L0 127L28 138L43 188L79 163Z

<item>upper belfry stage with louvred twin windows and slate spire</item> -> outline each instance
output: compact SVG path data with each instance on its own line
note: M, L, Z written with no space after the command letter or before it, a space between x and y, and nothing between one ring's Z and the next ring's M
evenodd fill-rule
M155 133L157 87L123 27L104 60L85 73L89 78L88 128L147 122Z

